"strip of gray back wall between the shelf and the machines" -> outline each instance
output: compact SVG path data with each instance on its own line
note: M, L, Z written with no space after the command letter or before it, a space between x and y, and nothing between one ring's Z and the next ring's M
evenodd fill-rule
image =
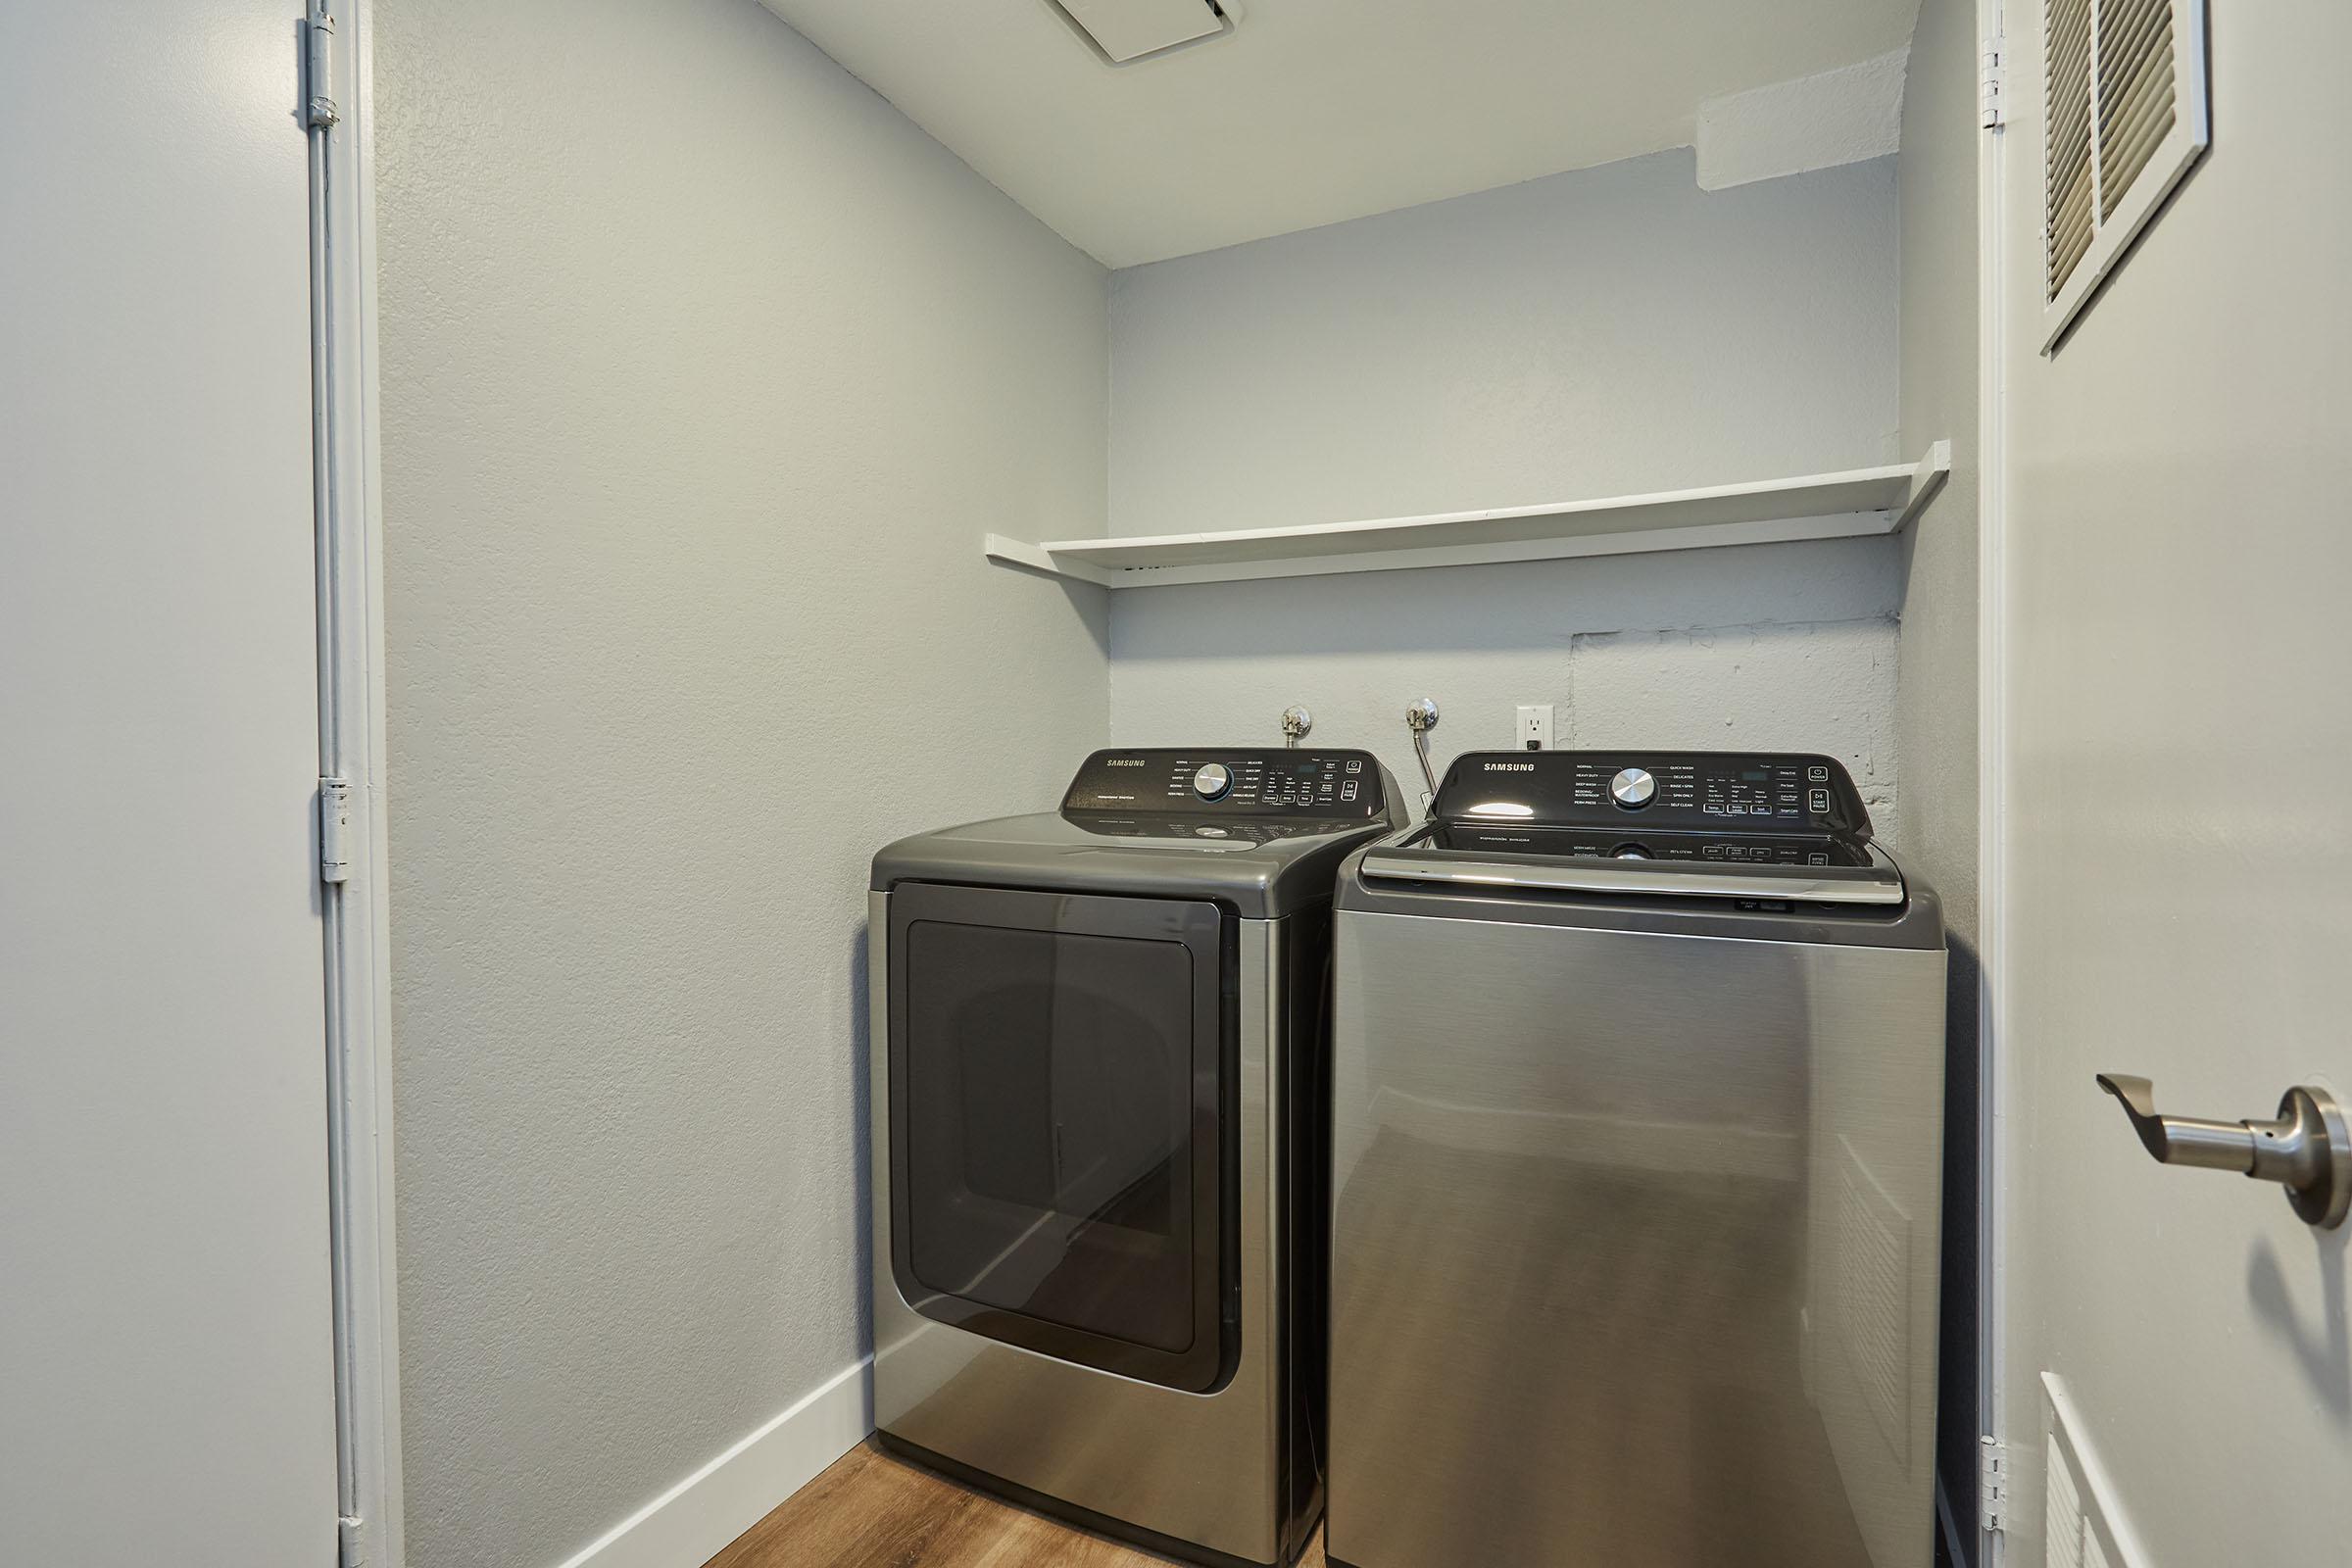
M1517 703L1555 705L1555 745L1828 748L1893 804L1900 595L1886 541L1383 571L1120 595L1110 703L1120 745L1364 745L1418 799L1404 705L1437 698L1437 771L1512 745ZM1757 616L1769 616L1757 621ZM1592 630L1578 630L1592 628ZM1736 741L1733 741L1736 736ZM1891 825L1891 816L1882 827Z

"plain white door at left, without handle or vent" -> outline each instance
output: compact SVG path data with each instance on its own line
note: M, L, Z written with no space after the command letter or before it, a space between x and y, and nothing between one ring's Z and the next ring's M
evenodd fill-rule
M287 0L0 5L0 1563L325 1568Z

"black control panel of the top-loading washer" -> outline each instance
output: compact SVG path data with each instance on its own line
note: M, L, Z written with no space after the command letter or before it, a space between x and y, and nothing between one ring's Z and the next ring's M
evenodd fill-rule
M1809 752L1463 752L1437 788L1435 816L1623 830L1628 839L1637 827L1870 837L1870 811L1844 764Z

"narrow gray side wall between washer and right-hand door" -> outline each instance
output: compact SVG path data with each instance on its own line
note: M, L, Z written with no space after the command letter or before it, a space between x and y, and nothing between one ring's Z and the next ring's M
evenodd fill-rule
M1978 1446L1978 1030L1976 961L1976 574L1978 574L1978 214L1976 0L1924 0L1903 89L1903 444L1952 442L1952 477L1903 534L1903 658L1896 748L1903 752L1905 860L1943 893L1952 938L1945 1067L1943 1345L1936 1469L1959 1554ZM1959 1523L1964 1521L1964 1523Z

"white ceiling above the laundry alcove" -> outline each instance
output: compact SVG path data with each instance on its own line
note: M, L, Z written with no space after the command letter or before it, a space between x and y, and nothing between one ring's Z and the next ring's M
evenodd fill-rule
M764 0L1105 266L1689 146L1698 103L1910 42L1917 0L1228 0L1105 66L1047 0Z

